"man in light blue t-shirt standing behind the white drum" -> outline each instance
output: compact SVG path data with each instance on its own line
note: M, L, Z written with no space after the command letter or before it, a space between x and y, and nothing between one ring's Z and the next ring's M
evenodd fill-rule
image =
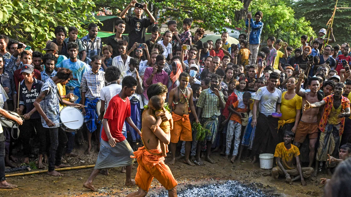
M69 42L67 44L69 59L64 59L62 62L60 62L60 64L57 65L57 68L67 68L69 70L72 70L73 77L66 84L66 91L68 91L67 94L73 93L74 95L78 96L78 99L74 101L74 103L79 103L81 100L80 82L82 81L84 72L88 70L86 68L86 63L77 59L78 48L79 47L77 43Z

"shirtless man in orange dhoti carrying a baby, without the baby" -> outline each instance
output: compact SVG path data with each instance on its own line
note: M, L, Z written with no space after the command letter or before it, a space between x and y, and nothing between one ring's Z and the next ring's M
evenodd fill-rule
M161 83L152 84L148 97L154 96L154 93L160 94L166 99L167 87ZM171 114L164 109L165 114L161 115L163 121L171 119ZM160 141L165 144L170 143L170 133L166 134L160 127L152 132L150 127L155 125L156 117L151 108L145 109L142 116L141 128L144 146L134 152L138 161L137 174L135 175L135 183L139 186L139 190L129 194L127 197L144 197L150 188L151 182L155 177L163 187L168 190L168 196L177 197L177 181L174 179L170 168L164 163L165 158L161 156L162 151ZM145 143L146 142L146 143Z

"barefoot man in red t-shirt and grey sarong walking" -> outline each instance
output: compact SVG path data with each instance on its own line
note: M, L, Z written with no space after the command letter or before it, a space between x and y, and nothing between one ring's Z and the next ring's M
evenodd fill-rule
M108 168L126 166L126 183L125 185L135 185L132 180L133 149L122 134L124 121L141 135L141 132L135 126L131 115L131 106L128 97L134 94L137 89L137 80L132 76L127 76L122 80L122 90L114 96L108 107L102 125L104 126L101 133L101 145L93 172L83 187L98 191L93 186L94 178L100 173L108 175Z

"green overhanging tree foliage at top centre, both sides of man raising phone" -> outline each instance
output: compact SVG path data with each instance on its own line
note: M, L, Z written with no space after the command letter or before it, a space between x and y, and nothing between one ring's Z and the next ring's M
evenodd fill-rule
M130 1L95 0L95 3L99 10L106 7L111 9L113 14L119 14ZM162 10L160 17L155 17L159 23L176 20L179 23L178 28L181 29L183 19L191 17L194 20L193 24L215 33L223 31L225 26L230 27L235 11L243 6L240 1L232 0L151 0L148 3L153 5L150 12L154 17Z

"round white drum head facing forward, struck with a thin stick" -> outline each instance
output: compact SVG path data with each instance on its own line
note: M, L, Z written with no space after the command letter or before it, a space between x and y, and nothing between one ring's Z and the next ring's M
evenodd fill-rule
M74 120L78 121L69 122ZM61 125L65 125L67 128L76 130L83 126L84 117L82 112L78 110L77 107L67 106L60 111L60 122L67 122Z

